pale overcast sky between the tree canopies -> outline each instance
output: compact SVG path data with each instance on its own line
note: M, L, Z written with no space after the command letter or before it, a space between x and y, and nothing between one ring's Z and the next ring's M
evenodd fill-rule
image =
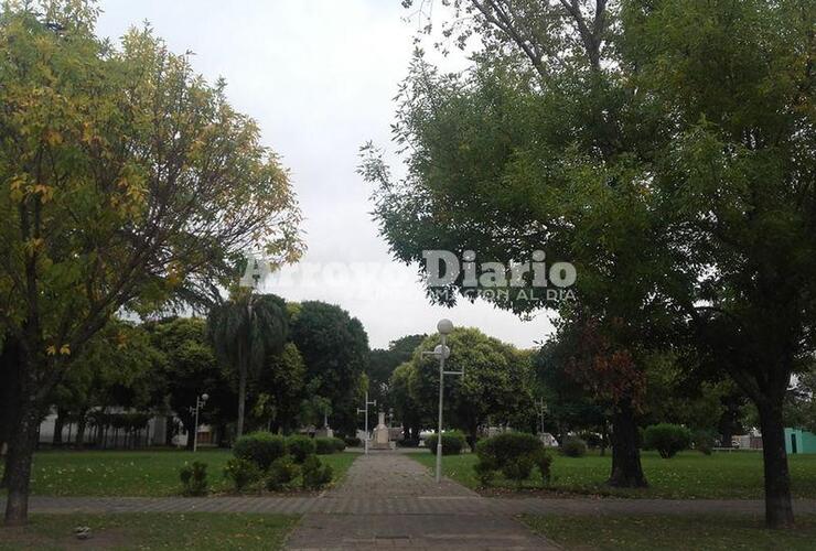
M97 28L114 40L147 20L176 53L191 50L206 78L260 125L289 168L309 251L265 290L340 304L372 347L431 333L440 317L532 347L552 331L546 314L523 322L484 302L431 306L416 267L391 260L356 174L359 145L390 148L393 97L406 76L417 23L399 0L105 0ZM447 62L447 63L457 63ZM396 162L396 161L395 161Z

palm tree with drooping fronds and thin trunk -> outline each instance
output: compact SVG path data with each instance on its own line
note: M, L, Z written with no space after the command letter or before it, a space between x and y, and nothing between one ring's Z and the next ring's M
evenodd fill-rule
M210 311L207 332L218 359L238 374L238 429L244 434L247 379L289 336L286 302L275 294L241 289Z

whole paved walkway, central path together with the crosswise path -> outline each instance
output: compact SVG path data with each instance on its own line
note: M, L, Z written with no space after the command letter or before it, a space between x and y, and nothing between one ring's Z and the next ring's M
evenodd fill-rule
M0 497L0 508L4 509ZM304 515L294 549L384 547L546 549L514 519L520 514L758 512L762 500L486 498L450 480L437 485L427 469L399 453L372 452L350 468L344 484L305 497L44 497L32 512L276 512ZM816 514L816 499L794 500ZM339 536L340 534L340 536Z

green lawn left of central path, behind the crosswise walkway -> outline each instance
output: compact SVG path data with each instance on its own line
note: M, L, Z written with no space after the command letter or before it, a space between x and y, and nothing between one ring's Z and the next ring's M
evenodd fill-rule
M321 455L334 471L334 484L359 454ZM186 451L151 450L138 452L47 451L34 455L31 491L43 496L175 496L181 493L179 469L185 462L207 464L210 487L214 493L229 489L224 464L229 450ZM2 467L0 466L0 471Z

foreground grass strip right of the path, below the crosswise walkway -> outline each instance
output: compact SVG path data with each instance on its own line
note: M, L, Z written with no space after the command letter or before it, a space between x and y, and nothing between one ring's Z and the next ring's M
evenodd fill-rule
M798 515L792 530L767 530L758 516L642 515L522 517L535 532L565 549L812 550L816 516Z

